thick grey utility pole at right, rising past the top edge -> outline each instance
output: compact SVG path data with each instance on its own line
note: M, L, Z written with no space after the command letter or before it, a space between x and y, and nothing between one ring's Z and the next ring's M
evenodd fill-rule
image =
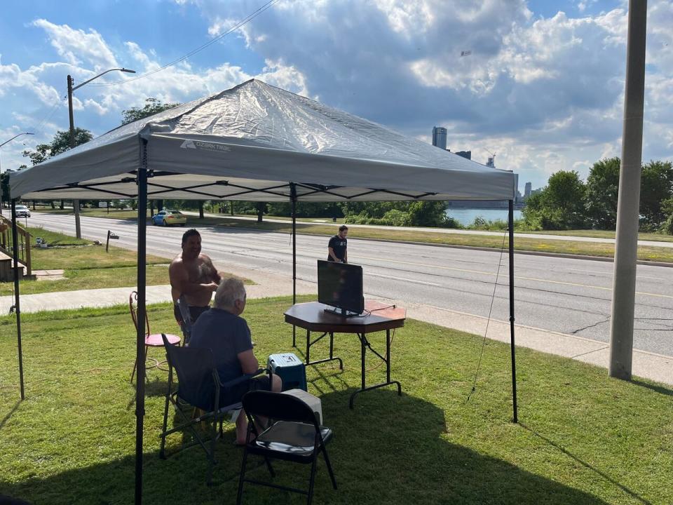
M643 154L647 1L629 0L622 161L610 328L610 376L631 379Z

